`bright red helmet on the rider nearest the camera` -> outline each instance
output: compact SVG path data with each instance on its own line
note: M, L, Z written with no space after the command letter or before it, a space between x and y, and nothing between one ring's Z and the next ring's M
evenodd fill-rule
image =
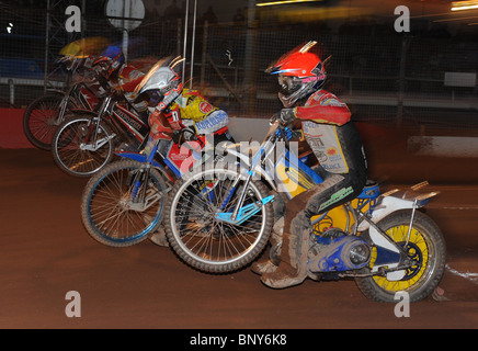
M281 99L285 107L320 89L327 73L318 54L311 52L317 42L308 42L283 55L266 73L278 75Z

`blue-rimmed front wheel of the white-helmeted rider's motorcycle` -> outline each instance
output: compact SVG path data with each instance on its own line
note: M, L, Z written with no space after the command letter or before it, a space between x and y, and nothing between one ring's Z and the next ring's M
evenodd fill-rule
M162 195L149 197L153 202L143 212L134 207L140 206L134 202L132 189L143 166L135 160L120 160L89 180L81 197L81 220L95 240L111 247L133 246L161 225L167 183L158 170L150 169L147 193L148 196ZM143 185L139 192L141 190Z

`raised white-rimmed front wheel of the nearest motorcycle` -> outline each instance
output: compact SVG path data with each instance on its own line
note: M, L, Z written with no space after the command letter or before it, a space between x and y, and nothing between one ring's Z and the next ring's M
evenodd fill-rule
M171 199L168 236L170 241L177 244L173 249L180 251L180 256L187 257L186 261L195 268L227 271L235 262L250 261L248 256L257 254L251 252L265 245L263 238L269 238L272 229L272 218L266 219L272 214L263 206L242 224L235 225L217 218L220 208L224 207L224 212L235 208L244 181L239 181L231 192L234 178L224 177L231 174L221 174L219 171L214 181L207 176L210 174L196 174L180 186L174 199ZM243 205L263 197L259 188L251 183Z

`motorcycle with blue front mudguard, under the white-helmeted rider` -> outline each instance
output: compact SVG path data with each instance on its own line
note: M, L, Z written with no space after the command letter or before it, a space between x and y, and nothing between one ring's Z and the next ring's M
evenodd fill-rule
M173 140L158 140L149 154L116 151L120 160L90 178L81 199L81 219L92 238L127 247L157 231L173 183L231 138L227 126L210 136L185 137L190 131L178 132ZM184 139L189 141L178 141Z

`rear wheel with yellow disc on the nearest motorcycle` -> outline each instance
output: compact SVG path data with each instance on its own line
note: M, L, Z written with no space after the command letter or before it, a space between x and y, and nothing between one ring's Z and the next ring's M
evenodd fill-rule
M382 219L378 226L403 247L410 215L410 211L394 213ZM445 271L446 247L439 226L424 213L416 213L410 242L406 250L421 264L408 269L405 278L397 282L390 282L385 276L356 278L355 282L366 297L376 302L392 303L397 302L395 295L398 292L405 292L410 302L418 302L433 293ZM374 257L371 268L373 262Z

